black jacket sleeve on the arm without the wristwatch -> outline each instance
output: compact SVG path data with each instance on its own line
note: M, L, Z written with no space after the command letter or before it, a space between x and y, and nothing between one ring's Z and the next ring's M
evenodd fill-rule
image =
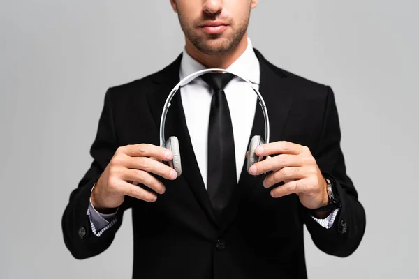
M117 216L115 216L117 221L112 227L103 232L100 237L92 232L89 216L87 216L91 188L99 176L101 176L118 148L112 118L110 91L111 89L105 93L103 110L98 122L98 130L90 149L93 162L78 183L78 187L71 192L69 202L61 219L64 243L71 252L71 255L76 259L92 257L106 250L121 226L124 210L128 208L126 199L122 206L119 206Z

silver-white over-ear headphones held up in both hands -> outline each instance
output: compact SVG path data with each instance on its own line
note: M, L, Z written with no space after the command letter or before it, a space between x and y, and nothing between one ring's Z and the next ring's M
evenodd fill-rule
M175 93L179 90L180 87L188 84L189 82L191 82L191 80L196 79L197 77L199 77L200 75L203 75L205 73L230 73L232 75L235 75L236 77L240 77L239 75L236 75L235 73L231 73L228 70L224 70L224 69L218 69L218 68L209 68L209 69L205 69L205 70L199 70L198 72L192 73L191 75L188 75L186 77L184 77L183 80L181 80L178 84L176 84L176 86L172 89L172 91L170 92L168 98L166 99L166 102L164 104L163 107L163 112L161 114L161 121L160 121L160 146L163 148L167 148L170 149L170 151L172 151L173 153L173 159L170 160L168 162L168 165L170 165L170 167L172 167L173 169L175 169L175 171L177 172L177 176L179 177L180 174L182 174L182 163L181 163L181 159L180 159L180 150L179 150L179 140L177 140L177 137L172 136L169 137L169 139L166 141L165 135L164 135L164 128L166 125L166 116L168 114L168 110L169 107L171 105L170 101L172 100L173 96L175 96ZM255 154L255 149L256 147L258 147L260 144L267 144L269 143L269 136L270 136L270 126L269 126L269 119L267 116L267 110L266 110L266 105L265 105L265 101L263 100L262 96L260 95L260 92L258 91L258 89L255 88L255 86L253 86L253 84L245 79L244 77L240 77L241 80L244 80L244 82L247 82L247 84L249 84L251 86L251 88L253 89L253 91L255 91L256 95L258 96L259 99L259 105L262 108L263 111L263 118L265 120L265 137L260 137L260 135L255 135L252 137L251 142L249 144L249 158L247 159L247 169L249 169L251 167L251 165L253 165L256 162L259 162L261 160L263 160L263 156L257 156Z

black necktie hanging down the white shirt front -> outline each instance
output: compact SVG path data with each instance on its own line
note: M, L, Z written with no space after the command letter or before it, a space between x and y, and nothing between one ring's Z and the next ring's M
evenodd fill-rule
M233 77L230 73L201 76L214 89L208 126L207 192L217 216L226 208L237 184L233 126L223 90Z

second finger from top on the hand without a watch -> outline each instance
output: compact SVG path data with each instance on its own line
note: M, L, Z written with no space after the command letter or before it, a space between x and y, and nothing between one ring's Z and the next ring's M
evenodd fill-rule
M176 179L177 173L175 169L165 165L157 160L153 160L152 158L147 157L131 157L128 158L128 163L126 167L129 169L141 169L145 172L152 172L153 174L157 174L165 179Z

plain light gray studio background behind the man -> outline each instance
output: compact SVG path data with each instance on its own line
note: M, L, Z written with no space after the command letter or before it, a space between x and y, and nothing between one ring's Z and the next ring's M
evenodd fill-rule
M367 211L351 257L305 235L310 278L419 278L418 8L261 0L253 11L249 36L267 59L334 89ZM166 66L182 35L168 0L1 1L0 278L131 278L131 211L112 246L83 261L64 246L61 214L91 163L105 90Z

